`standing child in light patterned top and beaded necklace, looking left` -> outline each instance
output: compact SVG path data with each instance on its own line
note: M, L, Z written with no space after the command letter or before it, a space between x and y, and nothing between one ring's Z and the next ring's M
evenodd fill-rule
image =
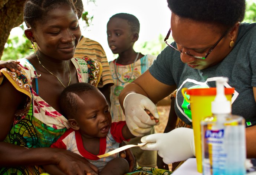
M135 80L153 63L155 56L142 55L134 51L134 43L139 38L140 22L132 14L118 13L113 15L107 24L108 45L118 58L109 63L114 85L111 86L111 116L114 122L124 121L125 115L118 101L119 93L124 87ZM145 135L153 134L154 128ZM129 141L129 144L140 143L141 137ZM142 151L131 148L140 167L156 167L157 152Z

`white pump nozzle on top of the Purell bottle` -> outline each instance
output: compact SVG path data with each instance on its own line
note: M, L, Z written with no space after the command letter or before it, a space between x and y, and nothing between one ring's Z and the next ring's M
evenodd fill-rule
M217 77L216 80L216 97L211 102L211 112L213 114L229 114L231 113L231 103L227 100L224 91L224 83L228 82L227 77Z

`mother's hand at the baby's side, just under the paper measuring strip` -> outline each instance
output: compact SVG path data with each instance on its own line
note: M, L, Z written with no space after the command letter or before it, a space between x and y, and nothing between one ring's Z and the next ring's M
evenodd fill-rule
M119 144L119 147L123 147L125 145L127 145L127 144L123 141L122 143ZM120 155L120 157L122 157L128 161L129 172L132 172L134 170L135 163L136 163L135 157L132 154L132 150L130 148L126 149L124 151L119 152L119 155Z

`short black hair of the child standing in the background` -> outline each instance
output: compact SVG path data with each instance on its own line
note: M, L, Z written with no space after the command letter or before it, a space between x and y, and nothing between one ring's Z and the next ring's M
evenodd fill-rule
M137 32L138 34L140 33L140 21L134 15L129 13L117 13L110 17L109 20L112 18L121 18L123 20L127 20L132 32Z

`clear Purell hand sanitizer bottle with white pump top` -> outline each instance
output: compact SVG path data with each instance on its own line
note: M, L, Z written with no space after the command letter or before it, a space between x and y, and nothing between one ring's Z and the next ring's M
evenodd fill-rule
M225 77L216 80L213 116L201 121L203 175L246 174L244 118L231 114L231 103L224 95L227 81Z

